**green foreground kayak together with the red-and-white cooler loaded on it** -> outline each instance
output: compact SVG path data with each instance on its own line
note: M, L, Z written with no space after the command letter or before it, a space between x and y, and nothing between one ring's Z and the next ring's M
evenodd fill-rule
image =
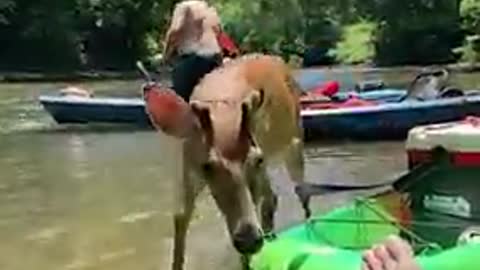
M480 118L417 126L405 145L406 174L374 195L275 232L251 268L360 270L366 249L398 235L422 270L480 269Z

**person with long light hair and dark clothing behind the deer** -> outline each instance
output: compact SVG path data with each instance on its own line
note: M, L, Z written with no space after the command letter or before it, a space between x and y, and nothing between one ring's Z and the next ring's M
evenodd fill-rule
M223 64L225 53L238 52L220 25L216 9L205 1L185 0L175 5L163 57L167 63L174 60L173 90L187 102L203 76Z

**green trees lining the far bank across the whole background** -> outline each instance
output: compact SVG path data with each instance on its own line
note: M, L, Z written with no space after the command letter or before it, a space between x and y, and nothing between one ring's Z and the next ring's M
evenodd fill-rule
M0 69L130 69L157 59L178 1L0 0ZM244 52L313 64L478 61L478 41L465 37L480 35L480 0L209 2Z

